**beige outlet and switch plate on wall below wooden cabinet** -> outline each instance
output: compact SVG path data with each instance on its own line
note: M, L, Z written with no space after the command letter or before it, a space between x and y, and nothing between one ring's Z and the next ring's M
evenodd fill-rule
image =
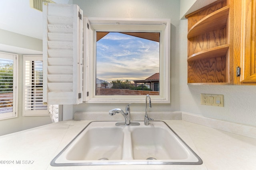
M223 107L222 94L201 94L201 104Z

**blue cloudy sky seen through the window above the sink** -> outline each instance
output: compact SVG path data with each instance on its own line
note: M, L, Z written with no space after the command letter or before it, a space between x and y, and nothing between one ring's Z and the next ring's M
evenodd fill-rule
M96 78L144 80L159 72L159 43L110 32L96 44Z

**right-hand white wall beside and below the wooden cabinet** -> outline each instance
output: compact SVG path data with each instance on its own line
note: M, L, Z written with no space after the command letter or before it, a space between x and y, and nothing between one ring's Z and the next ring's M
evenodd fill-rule
M187 31L187 20L180 31ZM256 126L256 86L187 85L187 39L180 33L180 109L181 111ZM223 94L224 107L200 104L200 94Z

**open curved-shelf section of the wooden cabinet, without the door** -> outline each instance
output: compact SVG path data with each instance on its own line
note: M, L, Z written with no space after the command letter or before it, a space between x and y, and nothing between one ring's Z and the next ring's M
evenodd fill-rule
M232 84L230 6L216 1L188 19L188 83Z

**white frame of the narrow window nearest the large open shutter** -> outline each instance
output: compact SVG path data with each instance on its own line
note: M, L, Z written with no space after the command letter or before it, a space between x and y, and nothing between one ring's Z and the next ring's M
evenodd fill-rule
M22 115L23 116L48 116L48 107L47 109L42 110L28 110L26 109L26 61L43 61L42 55L23 55L23 104L22 104ZM30 69L30 68L29 68ZM43 92L42 92L43 93Z

